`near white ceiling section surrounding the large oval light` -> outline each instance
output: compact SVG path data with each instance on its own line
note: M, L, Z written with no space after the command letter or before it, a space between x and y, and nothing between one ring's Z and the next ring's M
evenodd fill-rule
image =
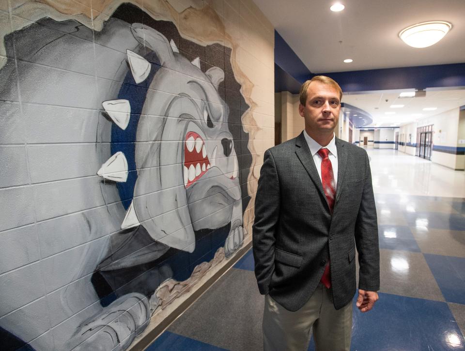
M312 73L465 62L465 0L340 0L345 9L331 12L336 1L254 0ZM431 20L453 26L436 45L399 39L405 27Z

